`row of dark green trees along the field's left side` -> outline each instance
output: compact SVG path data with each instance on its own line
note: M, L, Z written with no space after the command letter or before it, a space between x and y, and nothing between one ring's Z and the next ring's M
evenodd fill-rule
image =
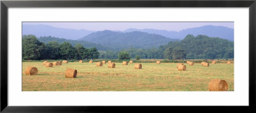
M97 59L97 48L84 48L77 43L75 46L68 42L62 44L52 41L47 44L38 41L36 36L22 36L22 60L83 60Z

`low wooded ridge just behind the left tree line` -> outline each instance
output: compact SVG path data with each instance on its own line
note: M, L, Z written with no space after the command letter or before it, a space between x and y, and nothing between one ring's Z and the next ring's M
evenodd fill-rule
M87 41L74 41L74 40L70 40L70 39L63 39L63 38L58 38L58 37L39 37L38 41L42 42L42 43L49 43L50 41L57 41L58 43L62 44L64 42L68 42L70 44L72 44L72 46L75 46L77 43L80 43L82 46L84 46L84 48L93 48L96 47L97 50L101 50L101 51L106 51L106 50L113 50L111 48L108 48L106 46L102 46L100 44L95 44L95 43L89 43Z

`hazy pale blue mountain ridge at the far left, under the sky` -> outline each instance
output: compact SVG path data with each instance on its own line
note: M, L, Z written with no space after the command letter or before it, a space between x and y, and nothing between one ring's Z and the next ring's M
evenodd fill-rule
M76 30L76 29L62 29L58 27L51 27L49 25L22 25L22 36L33 34L36 37L40 36L54 36L65 39L80 39L81 37L91 34L91 30Z

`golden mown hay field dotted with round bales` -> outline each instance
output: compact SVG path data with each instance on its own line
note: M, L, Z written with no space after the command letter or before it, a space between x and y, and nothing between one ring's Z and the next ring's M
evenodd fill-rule
M209 91L211 79L224 79L228 91L234 91L234 63L185 64L187 70L177 70L176 63L141 63L142 69L134 69L134 63L109 69L108 63L96 67L96 63L69 62L45 67L43 62L22 62L22 91ZM38 75L28 76L25 69L33 66ZM77 78L65 78L67 68L77 70Z

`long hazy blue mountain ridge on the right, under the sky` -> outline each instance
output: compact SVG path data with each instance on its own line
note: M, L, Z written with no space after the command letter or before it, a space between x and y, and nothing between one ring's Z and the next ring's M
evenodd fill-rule
M149 34L159 34L161 36L169 37L172 39L184 39L184 37L186 37L188 34L192 34L193 36L205 35L209 37L220 37L222 39L234 41L234 29L213 25L184 29L180 30L179 32L156 29L127 29L123 32L133 31L147 32Z

